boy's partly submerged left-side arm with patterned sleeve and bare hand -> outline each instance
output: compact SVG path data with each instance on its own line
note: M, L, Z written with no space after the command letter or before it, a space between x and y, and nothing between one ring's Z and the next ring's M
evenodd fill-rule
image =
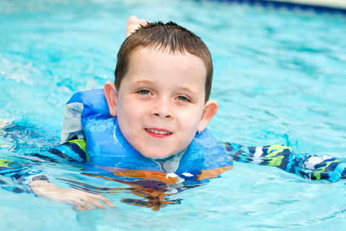
M83 146L81 145L81 147ZM66 145L60 145L55 149L40 154L27 154L26 158L35 158L35 160L48 163L60 163L61 161L62 163L67 162L76 165L80 162L86 162L88 159L81 147L76 145L75 142L69 142ZM71 153L69 153L69 151L71 151ZM44 171L37 168L35 165L17 163L12 160L0 160L0 175L10 177L21 185L29 186L21 187L21 185L17 185L14 187L12 183L1 181L0 179L0 187L5 190L27 193L31 191L36 196L51 201L74 205L73 208L76 210L93 210L94 206L96 208L105 209L107 208L105 205L115 208L113 203L111 203L108 198L104 198L101 194L93 194L73 188L66 189L50 183ZM100 203L100 201L103 202L104 205Z

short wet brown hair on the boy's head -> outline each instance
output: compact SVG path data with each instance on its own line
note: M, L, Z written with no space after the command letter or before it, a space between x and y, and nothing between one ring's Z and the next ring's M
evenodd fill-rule
M116 89L119 91L122 79L129 68L131 55L140 48L153 48L156 51L168 53L190 53L199 57L206 66L206 102L209 99L212 87L212 57L210 51L200 37L190 30L170 21L163 24L161 21L140 26L122 43L118 62L116 63Z

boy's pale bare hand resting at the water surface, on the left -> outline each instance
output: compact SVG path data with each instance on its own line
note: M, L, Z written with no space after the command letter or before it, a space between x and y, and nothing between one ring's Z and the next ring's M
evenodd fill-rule
M93 206L98 209L109 207L116 208L113 203L100 194L91 194L75 189L65 189L47 181L32 181L29 183L31 190L36 196L46 198L59 203L75 205L75 210L93 210ZM100 203L102 201L102 203Z

